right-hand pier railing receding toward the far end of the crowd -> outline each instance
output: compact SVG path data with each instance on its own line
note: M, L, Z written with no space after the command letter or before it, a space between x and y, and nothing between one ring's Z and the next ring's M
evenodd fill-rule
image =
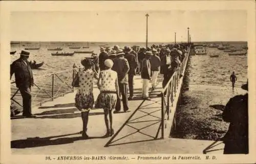
M180 92L178 89L179 88L179 83L180 78L184 76L186 65L187 65L187 60L189 56L190 48L188 48L188 52L185 55L185 58L183 61L180 63L180 66L178 70L172 75L170 80L167 82L165 87L162 89L162 97L161 97L161 132L162 132L162 138L164 137L164 129L166 128L167 122L169 122L169 119L173 119L173 123L171 124L172 127L170 127L171 131L175 129L176 127L176 115L175 115L175 110L176 110L176 105L178 102L178 99L180 97ZM170 113L173 113L173 116L170 117Z

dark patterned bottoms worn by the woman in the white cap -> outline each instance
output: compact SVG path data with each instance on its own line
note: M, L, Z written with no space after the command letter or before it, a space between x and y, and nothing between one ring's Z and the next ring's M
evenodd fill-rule
M95 108L115 109L117 102L116 93L100 93L95 103Z

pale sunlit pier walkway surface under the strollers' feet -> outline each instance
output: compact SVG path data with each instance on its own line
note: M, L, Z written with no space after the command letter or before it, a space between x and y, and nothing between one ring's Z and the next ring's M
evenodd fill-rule
M88 135L82 139L80 112L74 106L75 92L32 109L36 118L12 119L11 147L13 154L222 154L223 144L210 140L161 139L162 75L152 100L142 100L142 80L135 76L135 100L129 101L131 112L113 114L115 135L105 134L102 109L90 111ZM151 85L150 85L151 86ZM95 100L99 90L94 88ZM121 109L122 111L122 109ZM170 119L171 120L171 119ZM165 128L165 133L170 129ZM211 146L211 144L214 144ZM217 146L216 146L217 145ZM218 151L211 151L218 150Z

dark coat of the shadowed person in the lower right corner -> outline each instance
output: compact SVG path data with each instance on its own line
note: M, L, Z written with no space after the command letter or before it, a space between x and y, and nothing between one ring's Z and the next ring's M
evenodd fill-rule
M222 113L225 122L230 123L226 135L224 154L248 153L248 93L231 98Z

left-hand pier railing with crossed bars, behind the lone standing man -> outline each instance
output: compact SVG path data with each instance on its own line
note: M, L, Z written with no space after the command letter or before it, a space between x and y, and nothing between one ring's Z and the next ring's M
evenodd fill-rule
M34 86L31 89L32 106L53 101L55 98L73 92L71 83L81 67L55 72L47 75L34 76ZM11 101L22 106L22 96L16 88L15 81L11 82Z

